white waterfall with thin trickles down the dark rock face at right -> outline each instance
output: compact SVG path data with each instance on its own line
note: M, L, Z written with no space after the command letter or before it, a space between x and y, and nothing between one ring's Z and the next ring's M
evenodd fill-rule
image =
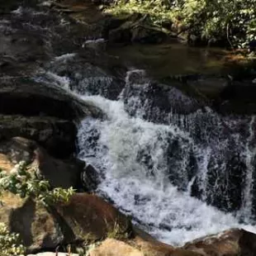
M49 75L52 82L70 88L68 78ZM135 80L131 79L134 75L137 75ZM244 160L246 181L249 181L252 172L249 164L252 166L254 158L250 151L254 117L248 126L249 117L228 119L211 109L178 115L170 108L163 115L157 106L154 110L150 107L149 98L144 101L140 93L131 96L126 92L130 86L133 92L146 91L150 85L143 77L140 70L128 72L126 88L118 101L68 89L107 115L103 121L85 118L78 130L78 156L94 165L101 176L97 193L111 198L121 211L133 216L135 223L168 244L183 244L230 227L255 231L247 211L251 204L244 202L251 193L249 183L241 188L243 206L239 211L225 213L207 204L215 205L222 194L230 210L232 171L235 168L243 171L236 166L239 161ZM170 94L174 96L173 92ZM162 119L162 124L147 121L149 113L167 116L168 121ZM251 130L241 138L241 130L249 127ZM239 152L245 149L246 152ZM229 158L230 152L241 154L235 153L237 159L233 159L234 155Z

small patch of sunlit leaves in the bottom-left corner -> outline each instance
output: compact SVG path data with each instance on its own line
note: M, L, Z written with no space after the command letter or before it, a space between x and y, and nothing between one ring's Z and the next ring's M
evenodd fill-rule
M10 233L7 226L0 223L0 256L24 255L25 247L21 244L20 235Z

